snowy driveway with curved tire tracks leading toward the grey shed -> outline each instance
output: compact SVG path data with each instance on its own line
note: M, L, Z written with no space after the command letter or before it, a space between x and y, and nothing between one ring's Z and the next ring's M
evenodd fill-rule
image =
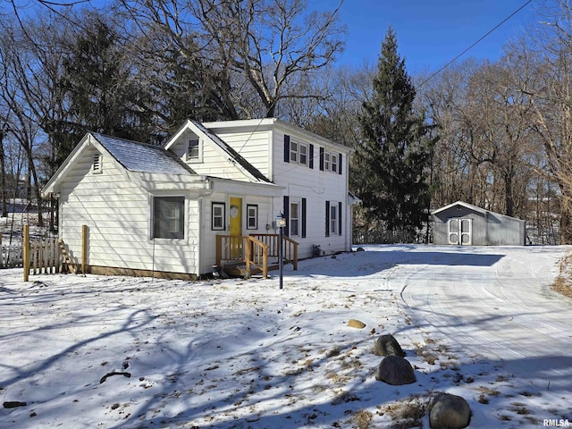
M549 289L564 253L541 247L445 250L404 279L401 299L416 324L518 377L568 384L570 299Z

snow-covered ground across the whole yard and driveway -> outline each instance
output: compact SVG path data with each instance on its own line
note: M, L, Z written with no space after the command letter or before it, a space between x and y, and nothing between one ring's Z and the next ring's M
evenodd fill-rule
M283 290L1 271L0 398L26 405L0 427L414 427L437 391L473 428L572 424L572 300L550 289L572 248L364 248ZM416 383L375 381L383 333Z

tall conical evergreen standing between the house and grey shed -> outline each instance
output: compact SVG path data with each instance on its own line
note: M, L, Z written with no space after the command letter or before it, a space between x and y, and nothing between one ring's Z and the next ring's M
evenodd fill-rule
M359 115L363 139L354 156L353 189L367 223L385 228L389 240L396 232L400 240L411 240L428 216L426 172L433 142L426 137L424 116L413 109L416 90L391 28L377 68L371 98Z

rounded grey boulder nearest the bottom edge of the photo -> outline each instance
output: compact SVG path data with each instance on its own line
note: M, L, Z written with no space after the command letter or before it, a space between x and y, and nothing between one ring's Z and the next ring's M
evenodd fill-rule
M462 429L471 420L471 408L467 400L450 393L439 393L429 411L432 429Z

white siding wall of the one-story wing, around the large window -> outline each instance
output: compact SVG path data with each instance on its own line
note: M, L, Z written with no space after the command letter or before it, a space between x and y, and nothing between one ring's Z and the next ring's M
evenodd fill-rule
M61 189L60 231L71 256L80 260L81 225L86 224L88 265L196 273L197 201L185 196L189 222L184 240L154 243L149 239L151 196L109 156L103 157L103 173L93 174L95 153L93 148L86 150Z

